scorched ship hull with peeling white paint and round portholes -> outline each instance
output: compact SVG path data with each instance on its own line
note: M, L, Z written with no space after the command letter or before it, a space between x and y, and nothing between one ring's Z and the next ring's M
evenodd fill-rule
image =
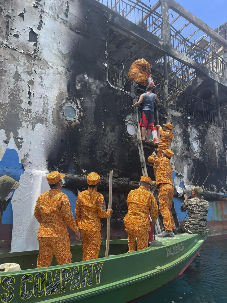
M73 212L86 175L101 175L98 190L107 199L107 174L113 170L111 233L125 235L127 194L141 175L127 70L138 54L156 62L163 54L160 38L155 42L153 33L95 0L7 0L0 16L0 169L21 183L3 214L1 245L37 249L33 210L48 190L45 174L53 170L67 175L63 191ZM226 129L164 102L157 110L160 124L171 118L175 126L175 185L182 186L182 178L200 184L212 171L208 183L226 188ZM146 157L152 151L147 148ZM154 178L153 168L148 171ZM181 202L175 201L176 209ZM212 203L209 221L226 228L226 202ZM177 215L182 221L183 214Z

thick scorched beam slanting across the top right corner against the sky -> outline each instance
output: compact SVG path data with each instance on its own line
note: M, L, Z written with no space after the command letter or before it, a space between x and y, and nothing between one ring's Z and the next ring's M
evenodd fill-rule
M163 0L160 0L163 1ZM183 6L179 5L174 0L166 0L168 3L169 8L171 8L174 12L181 15L183 18L194 24L196 27L201 29L204 33L206 33L208 36L210 36L212 39L214 39L216 42L218 42L220 45L227 48L227 40L225 40L221 35L219 35L217 32L215 32L211 27L209 27L206 23L204 23L202 20L197 18L196 16L192 15L189 11L187 11Z

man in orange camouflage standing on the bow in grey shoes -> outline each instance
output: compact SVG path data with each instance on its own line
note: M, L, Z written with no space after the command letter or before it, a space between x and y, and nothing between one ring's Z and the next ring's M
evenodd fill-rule
M171 213L175 190L172 179L173 168L169 160L173 155L173 151L167 148L162 151L161 157L156 157L156 153L153 152L153 155L148 158L148 162L156 164L156 181L153 182L153 185L158 188L159 209L166 229L161 234L158 234L158 237L174 237L174 234L177 234Z

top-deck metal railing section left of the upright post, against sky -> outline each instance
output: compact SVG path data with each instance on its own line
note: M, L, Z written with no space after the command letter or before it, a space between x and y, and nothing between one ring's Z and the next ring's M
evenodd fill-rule
M154 12L151 12L149 8L140 5L139 1L131 0L97 0L99 3L111 8L114 12L123 16L127 20L142 27L148 32L162 37L162 17Z

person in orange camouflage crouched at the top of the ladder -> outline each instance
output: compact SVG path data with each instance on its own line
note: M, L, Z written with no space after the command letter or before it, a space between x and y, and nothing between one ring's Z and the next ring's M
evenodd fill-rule
M144 71L142 70L144 69ZM128 72L128 81L136 82L147 86L148 72L150 72L150 63L145 59L139 59L132 63Z

